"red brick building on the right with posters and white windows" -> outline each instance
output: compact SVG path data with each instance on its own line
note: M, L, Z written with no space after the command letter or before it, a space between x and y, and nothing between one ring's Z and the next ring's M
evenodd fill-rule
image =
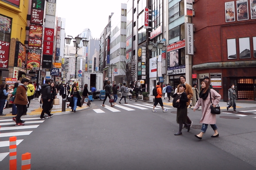
M253 0L215 2L193 3L196 78L192 80L200 84L204 76L210 77L224 101L231 84L238 100L256 100L255 4Z

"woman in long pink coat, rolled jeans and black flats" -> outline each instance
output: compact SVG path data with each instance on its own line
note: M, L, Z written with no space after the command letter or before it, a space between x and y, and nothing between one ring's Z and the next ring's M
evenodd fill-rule
M202 118L200 120L200 123L202 123L203 125L200 134L195 135L195 137L198 139L202 139L202 136L206 132L208 124L210 124L211 128L214 131L214 134L211 137L215 138L219 136L219 133L217 131L218 128L215 125L216 115L211 113L209 92L211 93L211 101L213 107L215 107L219 103L221 96L215 90L209 88L209 84L207 81L202 81L201 86L202 88L199 93L199 100L194 106L194 111L198 109L199 106L202 106Z

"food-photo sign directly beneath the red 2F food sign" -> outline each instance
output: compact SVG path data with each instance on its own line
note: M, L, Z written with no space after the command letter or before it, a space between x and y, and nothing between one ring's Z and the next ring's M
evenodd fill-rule
M41 49L28 49L27 70L40 70Z

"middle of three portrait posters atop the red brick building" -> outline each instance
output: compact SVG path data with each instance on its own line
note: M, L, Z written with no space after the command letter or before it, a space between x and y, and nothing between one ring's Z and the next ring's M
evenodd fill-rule
M236 1L237 21L249 20L247 0Z

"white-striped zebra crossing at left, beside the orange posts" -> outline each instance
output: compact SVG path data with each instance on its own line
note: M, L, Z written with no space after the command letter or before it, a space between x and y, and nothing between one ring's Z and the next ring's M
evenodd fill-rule
M26 121L24 126L15 126L15 122L12 119L1 119L0 120L0 148L8 147L9 149L9 137L20 136L23 138L26 135L30 135L33 129L39 127L40 123L43 123L45 120L39 120L39 117L35 118L22 118ZM35 125L27 125L35 124ZM26 131L27 130L27 131ZM19 145L24 139L19 139L16 141L16 145ZM1 149L3 150L3 149ZM6 149L5 149L6 150ZM0 151L1 152L1 151ZM0 153L0 162L9 155L9 152Z

